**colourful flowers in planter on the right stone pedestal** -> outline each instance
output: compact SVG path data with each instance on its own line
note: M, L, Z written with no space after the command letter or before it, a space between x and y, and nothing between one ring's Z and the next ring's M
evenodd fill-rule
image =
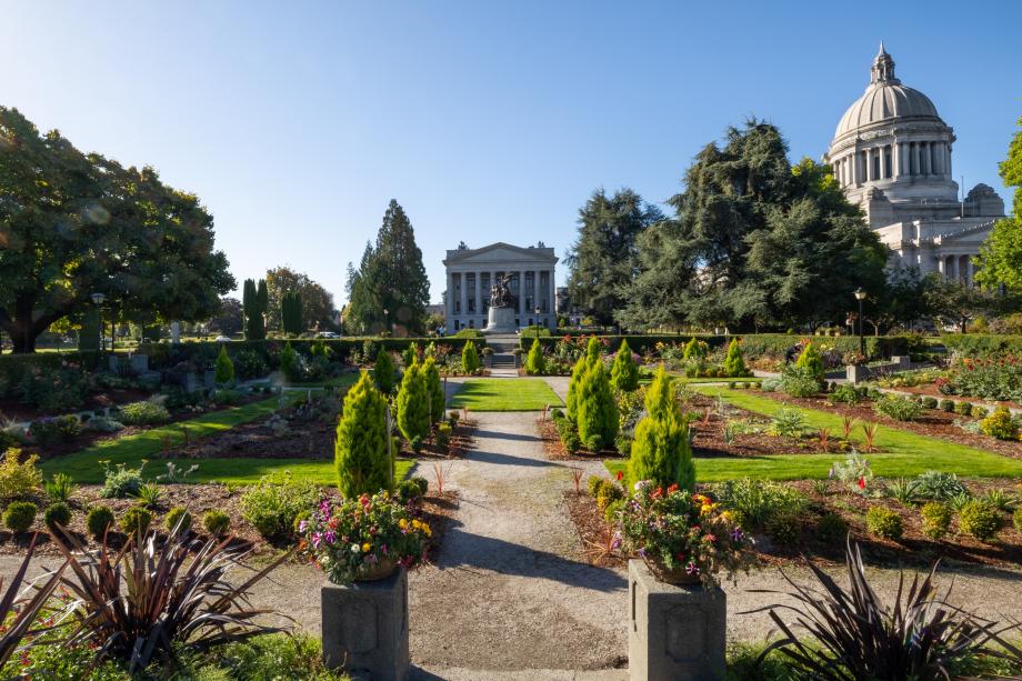
M752 538L728 511L677 484L664 489L635 483L621 512L621 538L624 549L638 553L659 580L673 584L713 588L721 571L733 580L754 560Z

